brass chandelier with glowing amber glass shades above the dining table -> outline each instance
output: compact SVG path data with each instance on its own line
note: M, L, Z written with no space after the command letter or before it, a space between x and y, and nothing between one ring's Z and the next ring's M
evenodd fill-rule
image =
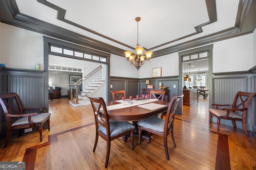
M127 61L131 62L131 65L133 64L137 70L139 70L140 66L142 66L144 63L146 63L147 61L150 60L152 52L151 51L147 51L145 53L147 60L145 60L145 56L142 55L144 48L140 47L139 45L139 21L140 21L140 17L136 17L135 21L137 21L137 45L135 46L135 51L137 54L130 52L130 51L126 51L124 52L125 57L127 59ZM126 62L127 62L126 61Z

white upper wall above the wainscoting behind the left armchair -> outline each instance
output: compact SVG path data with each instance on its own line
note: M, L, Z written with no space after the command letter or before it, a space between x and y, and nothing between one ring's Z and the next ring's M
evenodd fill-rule
M43 69L44 41L42 34L1 23L0 63L9 68Z

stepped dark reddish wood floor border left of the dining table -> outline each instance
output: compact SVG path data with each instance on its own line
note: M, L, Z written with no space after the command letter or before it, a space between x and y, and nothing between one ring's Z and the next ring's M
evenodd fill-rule
M48 145L52 145L54 143L57 143L58 142L58 138L57 138L58 135L62 135L64 133L68 133L68 132L71 132L71 131L82 129L84 127L88 127L88 126L91 126L91 125L95 125L95 123L90 123L90 124L87 124L87 125L75 127L73 129L68 129L66 131L62 131L62 132L59 132L59 133L56 133L56 134L53 134L53 135L49 135L48 136L48 142L42 143L40 145L36 145L34 147L27 148L26 152L24 154L23 160L22 160L22 161L26 162L26 170L34 170L37 150L42 148L42 147L46 147Z

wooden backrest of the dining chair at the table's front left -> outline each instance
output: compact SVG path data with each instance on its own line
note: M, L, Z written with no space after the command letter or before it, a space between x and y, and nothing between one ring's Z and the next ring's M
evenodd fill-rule
M107 137L110 137L110 126L108 119L108 111L106 104L103 98L92 98L86 95L90 99L92 104L92 109L94 113L94 120L96 125L96 131L98 130L99 125L106 128Z

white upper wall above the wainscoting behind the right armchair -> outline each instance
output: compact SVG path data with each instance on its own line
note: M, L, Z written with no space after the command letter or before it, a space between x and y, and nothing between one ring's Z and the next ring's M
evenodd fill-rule
M214 43L212 62L213 72L247 71L254 67L252 33Z

